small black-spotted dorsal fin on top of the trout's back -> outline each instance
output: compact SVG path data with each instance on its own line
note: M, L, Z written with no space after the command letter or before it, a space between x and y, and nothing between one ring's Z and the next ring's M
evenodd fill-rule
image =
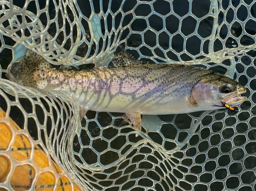
M130 55L126 50L122 50L121 52L117 53L112 63L115 67L123 67L123 66L131 66L131 65L137 65L142 64L143 62L135 59L132 55Z

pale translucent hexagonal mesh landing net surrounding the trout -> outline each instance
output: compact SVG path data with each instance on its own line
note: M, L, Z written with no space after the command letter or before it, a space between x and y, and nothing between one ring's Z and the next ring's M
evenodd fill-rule
M255 14L252 0L0 0L2 78L25 47L82 67L122 44L139 60L227 74L248 97L232 113L144 115L137 133L119 127L123 113L80 122L68 93L0 79L0 189L255 190Z

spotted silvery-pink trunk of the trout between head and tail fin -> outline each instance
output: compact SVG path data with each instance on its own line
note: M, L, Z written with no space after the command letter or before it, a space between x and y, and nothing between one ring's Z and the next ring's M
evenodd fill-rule
M208 73L185 65L144 64L83 71L45 70L37 75L46 82L38 88L72 92L88 110L160 115L200 110L186 99L201 75Z

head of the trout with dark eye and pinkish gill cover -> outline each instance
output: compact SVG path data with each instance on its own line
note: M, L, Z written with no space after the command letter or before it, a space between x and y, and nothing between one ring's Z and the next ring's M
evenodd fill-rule
M191 98L198 107L205 110L223 108L223 103L231 106L241 104L247 97L241 96L246 88L235 80L217 73L201 76L191 89Z

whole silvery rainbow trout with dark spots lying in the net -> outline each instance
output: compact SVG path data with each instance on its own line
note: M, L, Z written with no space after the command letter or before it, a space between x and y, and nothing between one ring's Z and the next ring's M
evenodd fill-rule
M125 51L114 68L57 70L35 52L12 65L7 78L23 86L67 91L78 99L80 117L88 110L126 113L141 129L141 114L190 113L236 106L246 89L233 79L189 65L140 63ZM123 67L118 67L123 66Z

